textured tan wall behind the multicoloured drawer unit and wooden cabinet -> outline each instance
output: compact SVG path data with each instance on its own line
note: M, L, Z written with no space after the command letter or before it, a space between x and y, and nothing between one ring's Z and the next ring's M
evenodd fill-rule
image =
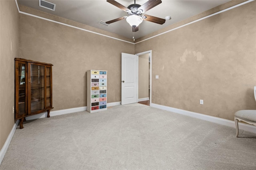
M51 63L53 110L86 106L86 71L108 71L108 103L121 100L121 53L134 44L20 14L20 57Z

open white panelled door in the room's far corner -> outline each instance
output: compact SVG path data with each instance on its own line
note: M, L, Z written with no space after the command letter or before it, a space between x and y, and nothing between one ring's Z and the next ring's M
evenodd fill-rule
M121 105L138 103L138 55L121 55Z

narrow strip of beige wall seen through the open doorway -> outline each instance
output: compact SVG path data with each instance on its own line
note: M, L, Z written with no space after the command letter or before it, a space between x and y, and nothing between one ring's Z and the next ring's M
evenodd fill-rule
M149 97L149 54L140 55L139 58L139 68L138 68L138 98L147 98Z

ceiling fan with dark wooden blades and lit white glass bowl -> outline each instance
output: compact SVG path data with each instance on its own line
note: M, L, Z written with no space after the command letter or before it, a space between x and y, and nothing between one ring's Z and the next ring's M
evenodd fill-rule
M136 4L134 0L134 4L129 5L127 8L122 4L116 2L115 0L107 0L107 2L120 8L121 10L124 10L125 12L127 12L129 16L123 16L120 18L116 18L114 20L107 21L106 24L111 24L113 22L126 19L126 21L130 24L130 26L132 26L132 32L137 32L139 30L139 25L140 23L142 23L143 20L154 22L156 24L161 24L161 25L165 23L165 19L143 14L144 12L150 10L151 8L154 8L155 6L161 4L162 3L161 0L148 0L143 5Z

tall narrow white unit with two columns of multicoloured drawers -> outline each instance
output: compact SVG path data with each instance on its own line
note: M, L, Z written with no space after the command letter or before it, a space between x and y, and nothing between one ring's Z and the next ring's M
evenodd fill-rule
M87 111L107 110L107 71L87 71Z

